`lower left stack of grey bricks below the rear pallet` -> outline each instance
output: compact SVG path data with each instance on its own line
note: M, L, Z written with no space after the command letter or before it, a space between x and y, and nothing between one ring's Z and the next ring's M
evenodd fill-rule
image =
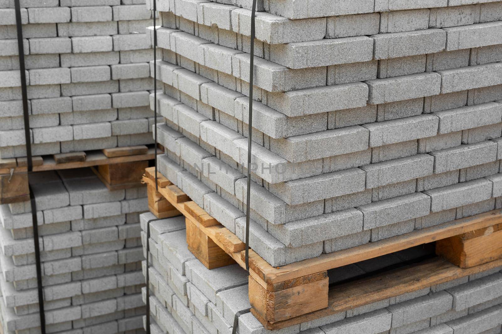
M139 215L146 187L109 191L90 169L35 173L47 333L144 332ZM41 332L30 202L0 205L4 333Z

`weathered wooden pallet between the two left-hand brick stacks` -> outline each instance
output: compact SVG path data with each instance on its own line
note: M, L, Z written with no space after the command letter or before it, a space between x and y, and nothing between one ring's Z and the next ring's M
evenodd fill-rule
M72 152L33 157L33 171L98 166L96 174L110 190L141 186L148 160L155 158L154 146L131 146L98 151ZM159 150L159 152L162 152ZM27 201L27 159L0 159L0 204Z

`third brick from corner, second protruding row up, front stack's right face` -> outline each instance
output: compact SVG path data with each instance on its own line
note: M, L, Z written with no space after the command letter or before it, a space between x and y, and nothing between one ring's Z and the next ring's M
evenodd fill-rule
M491 141L484 141L431 152L430 154L434 156L434 173L495 161L497 150L495 145Z

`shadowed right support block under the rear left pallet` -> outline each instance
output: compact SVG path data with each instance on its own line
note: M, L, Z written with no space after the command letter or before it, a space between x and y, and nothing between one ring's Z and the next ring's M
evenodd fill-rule
M93 170L109 190L119 190L141 187L147 167L148 161L131 161L100 165Z

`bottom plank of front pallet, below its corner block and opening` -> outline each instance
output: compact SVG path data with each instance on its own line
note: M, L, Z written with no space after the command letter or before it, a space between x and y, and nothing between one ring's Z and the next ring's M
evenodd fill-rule
M502 259L462 269L440 257L435 257L418 264L330 287L328 307L295 318L270 323L263 318L260 319L260 314L253 309L251 311L267 329L281 329L499 266L502 266Z

